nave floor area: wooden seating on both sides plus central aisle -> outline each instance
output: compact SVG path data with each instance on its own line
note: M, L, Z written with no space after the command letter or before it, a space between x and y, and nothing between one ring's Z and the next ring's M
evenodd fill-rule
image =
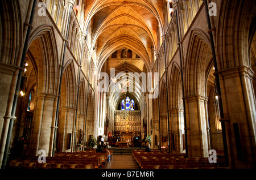
M228 169L223 157L186 158L184 153L131 150L125 155L113 150L56 153L54 157L12 158L6 169Z

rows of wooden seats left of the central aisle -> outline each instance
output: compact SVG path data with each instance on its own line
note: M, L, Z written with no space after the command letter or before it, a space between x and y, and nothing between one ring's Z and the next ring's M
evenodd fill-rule
M102 168L110 161L113 151L96 152L96 149L79 152L56 153L54 157L46 157L46 162L40 156L10 159L6 169L96 169Z

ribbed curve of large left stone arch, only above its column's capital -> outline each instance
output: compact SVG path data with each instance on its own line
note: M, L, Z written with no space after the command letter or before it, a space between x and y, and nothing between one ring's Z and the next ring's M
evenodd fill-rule
M59 62L53 28L42 25L31 34L28 51L33 55L38 70L37 92L57 94Z

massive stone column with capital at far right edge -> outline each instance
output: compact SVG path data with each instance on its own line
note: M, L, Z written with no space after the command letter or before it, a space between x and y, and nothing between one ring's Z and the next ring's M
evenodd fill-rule
M245 66L218 72L224 121L228 140L230 165L234 168L252 168L256 154L256 108L251 79L253 72ZM238 132L234 126L238 125Z

